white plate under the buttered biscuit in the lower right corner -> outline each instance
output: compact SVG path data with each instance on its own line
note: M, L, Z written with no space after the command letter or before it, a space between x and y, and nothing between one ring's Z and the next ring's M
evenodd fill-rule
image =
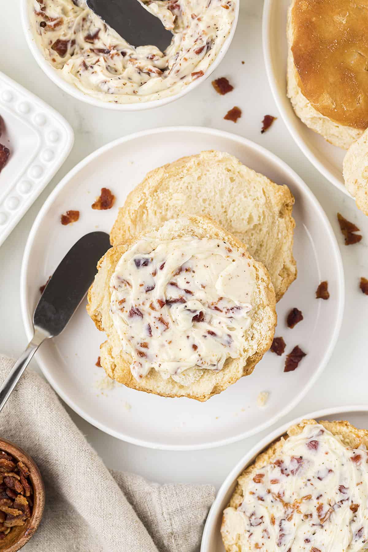
M266 436L260 443L255 445L249 452L237 463L226 477L225 481L217 493L215 502L212 504L210 513L207 516L205 524L202 544L200 552L225 552L221 539L221 522L222 512L230 502L232 493L235 490L239 475L252 464L255 458L266 449L274 440L284 435L290 426L301 420L348 420L353 426L366 429L368 428L368 405L362 406L345 406L325 408L317 412L311 412L300 416L291 422L287 422L284 426L275 429L271 434Z

